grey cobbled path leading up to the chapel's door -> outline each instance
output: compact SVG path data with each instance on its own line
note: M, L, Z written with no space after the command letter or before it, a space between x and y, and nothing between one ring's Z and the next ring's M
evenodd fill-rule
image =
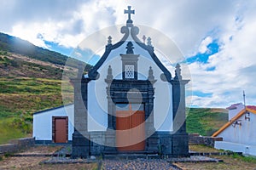
M104 170L179 170L172 163L159 159L135 159L135 160L104 160L102 161Z

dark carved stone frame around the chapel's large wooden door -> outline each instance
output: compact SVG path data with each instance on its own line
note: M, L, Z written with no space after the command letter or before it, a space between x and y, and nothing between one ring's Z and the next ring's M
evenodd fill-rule
M108 138L108 130L116 130L116 104L119 103L143 103L145 111L145 136L155 132L154 128L154 82L148 80L108 80L108 129L106 140L108 143L115 144L115 133ZM132 93L136 89L137 93ZM129 95L129 99L127 97ZM157 142L152 142L154 135L145 139L145 151L156 152L158 150ZM107 150L118 152L117 148L105 146Z

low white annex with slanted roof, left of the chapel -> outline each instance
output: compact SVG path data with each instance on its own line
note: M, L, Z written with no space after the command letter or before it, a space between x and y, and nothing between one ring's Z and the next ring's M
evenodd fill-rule
M62 105L33 114L36 144L67 143L73 134L73 105Z

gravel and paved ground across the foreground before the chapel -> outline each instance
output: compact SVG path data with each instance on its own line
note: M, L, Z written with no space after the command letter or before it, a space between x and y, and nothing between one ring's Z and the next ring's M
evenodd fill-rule
M37 156L44 154L54 154L57 156ZM255 161L243 161L234 156L190 156L187 158L169 159L101 159L91 157L90 159L70 159L66 157L71 153L70 146L35 146L23 150L17 155L8 156L0 161L0 169L102 169L102 170L125 170L125 169L252 169L256 170ZM35 155L35 156L26 156ZM211 158L212 157L212 158ZM224 160L224 162L219 162ZM40 163L41 162L41 163Z

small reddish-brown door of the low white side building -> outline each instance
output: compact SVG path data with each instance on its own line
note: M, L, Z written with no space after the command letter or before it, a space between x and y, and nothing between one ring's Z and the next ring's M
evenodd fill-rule
M55 143L67 142L67 119L55 118Z

